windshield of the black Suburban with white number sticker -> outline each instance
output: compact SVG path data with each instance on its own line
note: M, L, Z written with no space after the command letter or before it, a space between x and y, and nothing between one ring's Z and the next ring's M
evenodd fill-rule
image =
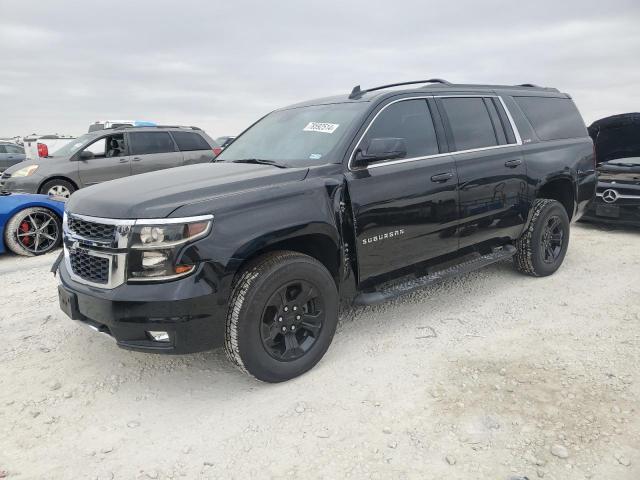
M217 161L267 160L286 166L331 163L335 149L367 103L277 110L236 138Z

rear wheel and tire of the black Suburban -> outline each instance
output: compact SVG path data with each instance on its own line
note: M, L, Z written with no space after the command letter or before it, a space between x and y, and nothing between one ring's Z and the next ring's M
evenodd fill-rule
M533 202L531 222L516 241L516 269L534 277L554 273L569 246L570 222L567 211L557 200L539 198Z

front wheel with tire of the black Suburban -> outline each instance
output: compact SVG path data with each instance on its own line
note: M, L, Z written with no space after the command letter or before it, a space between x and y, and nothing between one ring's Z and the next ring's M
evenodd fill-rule
M259 257L238 275L232 290L227 356L263 382L302 375L329 348L338 303L331 274L314 258L290 251Z

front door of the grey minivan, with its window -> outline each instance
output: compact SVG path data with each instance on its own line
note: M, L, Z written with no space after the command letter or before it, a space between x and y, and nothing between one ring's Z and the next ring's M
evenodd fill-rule
M93 156L82 159L80 156L85 150ZM102 137L82 151L74 158L78 161L78 175L83 187L131 175L131 157L122 133Z

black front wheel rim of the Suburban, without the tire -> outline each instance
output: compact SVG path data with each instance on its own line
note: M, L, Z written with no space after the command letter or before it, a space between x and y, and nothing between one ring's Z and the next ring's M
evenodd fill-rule
M276 360L297 360L317 342L324 317L324 303L314 285L305 280L288 282L271 295L264 308L262 344Z

